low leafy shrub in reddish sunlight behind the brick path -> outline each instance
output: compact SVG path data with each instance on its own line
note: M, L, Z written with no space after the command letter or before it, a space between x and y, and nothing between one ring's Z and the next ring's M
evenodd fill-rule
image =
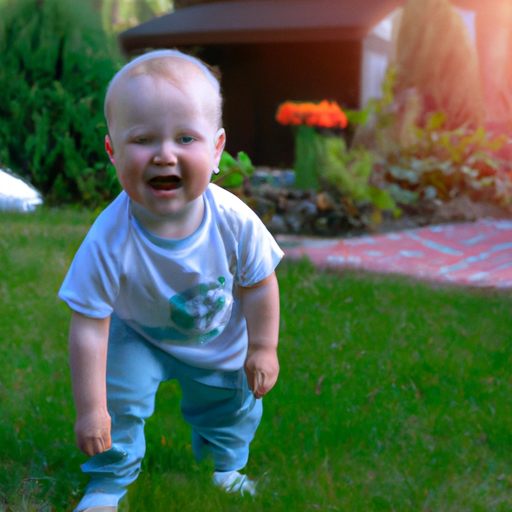
M483 128L446 130L445 119L441 112L432 114L425 128L413 127L410 145L397 146L383 157L380 172L393 184L395 198L407 202L408 193L409 202L448 201L466 195L509 207L512 166L496 156L506 138L493 138Z

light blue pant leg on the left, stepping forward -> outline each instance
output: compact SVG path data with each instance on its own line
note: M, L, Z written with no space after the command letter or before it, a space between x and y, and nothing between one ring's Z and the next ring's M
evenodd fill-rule
M113 315L107 359L107 405L112 418L112 444L126 456L105 464L99 454L82 465L89 475L86 493L77 507L117 505L126 487L139 474L146 450L145 420L154 411L160 382L167 380L173 358L149 344L137 332ZM170 365L169 365L170 363Z

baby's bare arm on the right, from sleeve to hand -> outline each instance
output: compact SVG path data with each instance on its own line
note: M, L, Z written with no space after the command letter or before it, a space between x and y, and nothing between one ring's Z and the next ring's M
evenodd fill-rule
M254 396L261 398L274 387L279 375L279 287L272 272L259 283L240 289L249 334L245 373Z

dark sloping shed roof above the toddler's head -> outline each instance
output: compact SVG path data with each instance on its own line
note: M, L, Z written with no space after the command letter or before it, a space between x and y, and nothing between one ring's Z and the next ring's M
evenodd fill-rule
M119 36L140 48L201 44L358 40L406 0L246 0L179 9Z

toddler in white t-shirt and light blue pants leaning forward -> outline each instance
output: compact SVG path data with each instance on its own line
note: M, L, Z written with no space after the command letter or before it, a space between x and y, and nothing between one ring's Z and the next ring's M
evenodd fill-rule
M238 470L279 373L282 251L258 217L210 184L226 135L218 80L174 50L127 64L105 99L105 146L123 188L62 284L78 448L90 477L76 511L116 511L144 456L144 422L176 379L197 459L214 484Z

